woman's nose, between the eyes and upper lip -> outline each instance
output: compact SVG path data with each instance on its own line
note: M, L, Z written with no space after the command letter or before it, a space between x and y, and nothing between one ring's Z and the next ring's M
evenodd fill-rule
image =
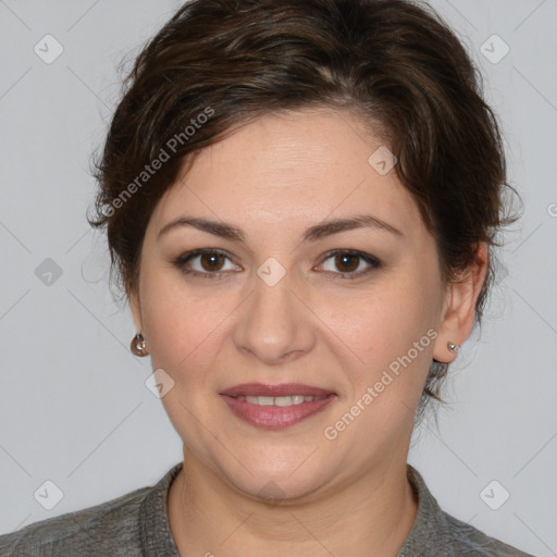
M296 289L288 273L276 284L255 277L253 292L243 304L233 332L239 351L273 366L312 349L313 314Z

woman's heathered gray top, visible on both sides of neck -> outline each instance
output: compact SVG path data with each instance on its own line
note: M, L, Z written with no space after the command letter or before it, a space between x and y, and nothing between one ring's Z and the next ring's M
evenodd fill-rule
M180 462L153 486L0 536L0 557L180 557L169 524L166 496ZM533 557L488 537L444 512L420 473L407 466L418 515L397 557Z

